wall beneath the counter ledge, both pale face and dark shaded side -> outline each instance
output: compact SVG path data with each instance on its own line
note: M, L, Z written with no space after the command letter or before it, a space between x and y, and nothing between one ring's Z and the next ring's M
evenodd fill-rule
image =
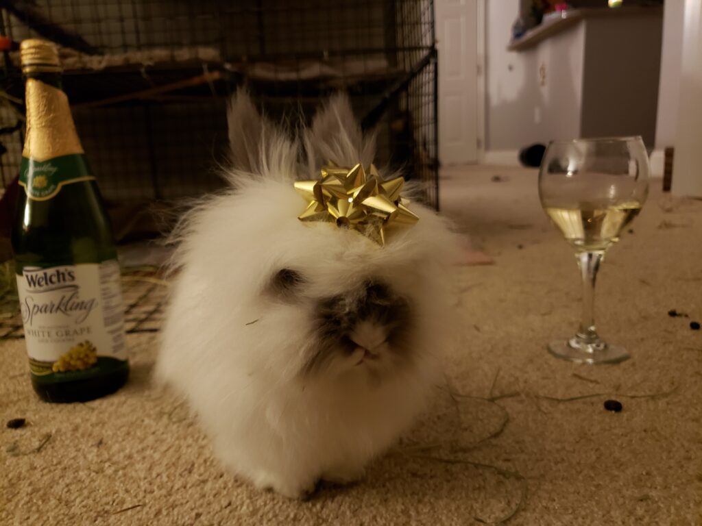
M510 0L486 11L486 149L641 135L654 145L660 9L592 17L523 51L506 49ZM509 23L508 23L509 22Z

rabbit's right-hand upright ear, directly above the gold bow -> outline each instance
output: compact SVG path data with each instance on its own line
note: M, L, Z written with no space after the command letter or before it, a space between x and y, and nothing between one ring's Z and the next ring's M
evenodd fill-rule
M333 95L314 116L305 132L308 170L316 171L329 161L340 166L369 166L376 153L375 137L364 137L345 93Z

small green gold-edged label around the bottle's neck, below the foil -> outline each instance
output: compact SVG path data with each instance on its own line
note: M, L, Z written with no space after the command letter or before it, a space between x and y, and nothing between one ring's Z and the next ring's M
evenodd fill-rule
M22 157L19 182L27 197L34 201L51 199L64 184L93 179L83 154L62 155L46 161Z

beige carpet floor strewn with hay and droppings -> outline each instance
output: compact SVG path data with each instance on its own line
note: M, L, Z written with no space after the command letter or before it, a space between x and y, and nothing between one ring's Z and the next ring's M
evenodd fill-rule
M79 405L37 400L16 340L0 346L0 524L702 524L702 331L689 328L702 321L702 202L654 180L597 293L602 334L633 359L578 366L545 351L574 331L580 289L536 174L444 175L445 213L495 260L462 274L468 338L448 371L465 396L437 391L362 483L298 502L224 473L185 407L150 386L153 335L129 340L128 386ZM15 417L27 426L6 429Z

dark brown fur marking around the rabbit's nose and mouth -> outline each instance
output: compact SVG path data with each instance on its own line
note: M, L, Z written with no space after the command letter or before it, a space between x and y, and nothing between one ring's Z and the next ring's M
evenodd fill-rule
M320 299L314 309L314 344L303 372L321 372L335 360L366 367L373 376L409 362L411 309L381 281Z

